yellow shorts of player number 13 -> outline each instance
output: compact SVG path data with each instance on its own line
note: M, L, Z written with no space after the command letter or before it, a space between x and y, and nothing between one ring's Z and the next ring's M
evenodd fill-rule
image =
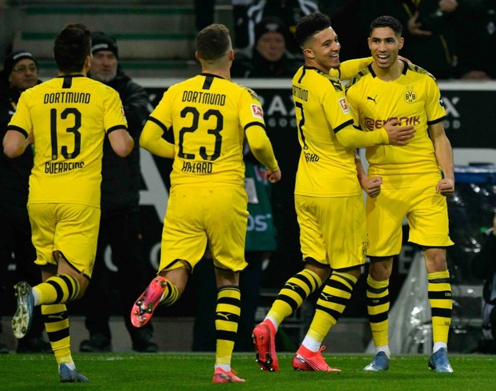
M58 251L89 279L95 262L100 208L77 203L28 204L36 264L57 264Z

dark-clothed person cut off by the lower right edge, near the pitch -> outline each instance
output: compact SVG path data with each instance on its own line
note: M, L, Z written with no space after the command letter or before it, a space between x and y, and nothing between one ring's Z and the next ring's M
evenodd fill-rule
M484 281L482 303L482 336L479 351L496 353L496 214L493 228L486 232L487 239L481 251L472 259L475 277Z

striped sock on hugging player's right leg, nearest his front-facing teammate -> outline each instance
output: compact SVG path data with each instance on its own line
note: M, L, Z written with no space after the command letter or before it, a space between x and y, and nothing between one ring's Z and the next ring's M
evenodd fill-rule
M357 278L334 271L320 293L307 336L322 342L334 326L350 300Z

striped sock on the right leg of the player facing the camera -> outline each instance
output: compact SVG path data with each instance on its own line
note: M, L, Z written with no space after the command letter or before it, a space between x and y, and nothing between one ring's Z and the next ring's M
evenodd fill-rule
M451 310L453 309L449 271L429 273L427 278L429 280L427 293L433 319L433 341L447 343Z

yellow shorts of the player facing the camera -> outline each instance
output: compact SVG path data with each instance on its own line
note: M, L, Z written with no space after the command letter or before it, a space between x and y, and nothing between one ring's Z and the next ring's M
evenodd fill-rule
M435 185L383 188L376 198L367 198L366 211L369 256L400 253L405 217L410 226L410 242L426 247L453 245L449 238L446 197L435 192Z

